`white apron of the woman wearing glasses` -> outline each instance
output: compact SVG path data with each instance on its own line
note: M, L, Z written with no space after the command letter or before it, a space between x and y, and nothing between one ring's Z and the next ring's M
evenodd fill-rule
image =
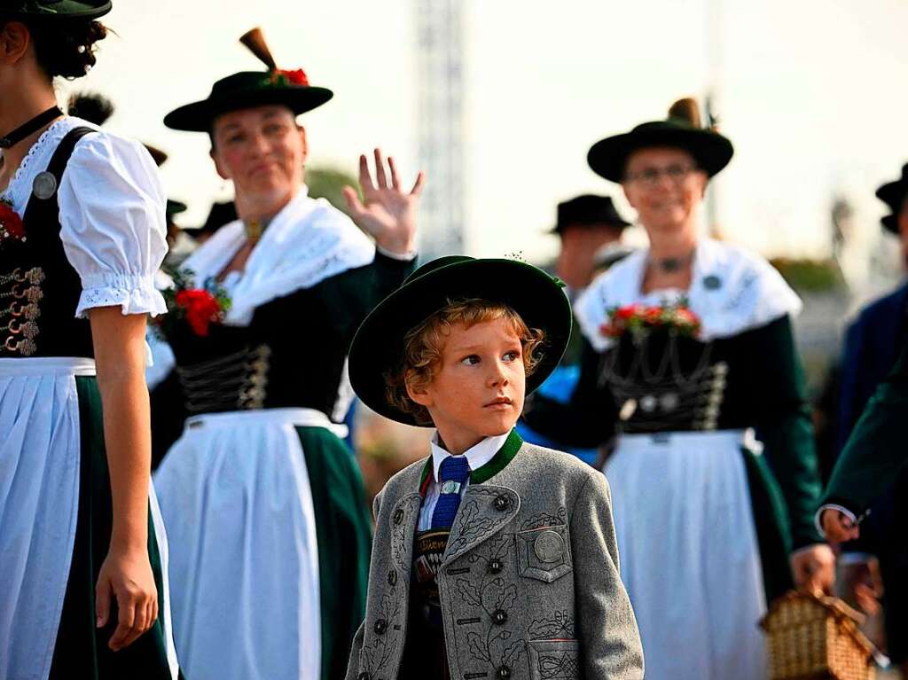
M646 680L764 680L742 431L623 435L604 469Z

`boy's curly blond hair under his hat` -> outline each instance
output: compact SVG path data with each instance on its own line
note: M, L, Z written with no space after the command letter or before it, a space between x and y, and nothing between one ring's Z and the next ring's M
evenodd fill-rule
M508 305L478 298L449 300L448 304L410 329L403 339L403 357L395 370L385 373L385 395L391 406L410 413L420 425L430 425L432 419L426 407L410 399L407 386L422 388L428 385L439 369L452 326L466 328L477 323L506 319L523 346L523 366L527 376L536 370L542 360L545 333L529 328L520 315Z

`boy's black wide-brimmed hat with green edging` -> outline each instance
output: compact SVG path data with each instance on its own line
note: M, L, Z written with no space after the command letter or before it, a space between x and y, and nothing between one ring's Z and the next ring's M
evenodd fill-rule
M527 377L527 394L558 367L568 347L571 328L570 303L560 282L526 262L450 255L430 261L410 274L357 330L350 346L348 368L350 383L366 406L405 425L421 425L410 413L390 405L385 375L400 369L404 336L410 330L449 301L464 299L505 304L529 328L545 332L542 359Z

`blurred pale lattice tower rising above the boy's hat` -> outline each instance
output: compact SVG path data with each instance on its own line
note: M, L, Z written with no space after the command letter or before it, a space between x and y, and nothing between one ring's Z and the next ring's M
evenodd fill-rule
M463 3L413 0L417 21L419 251L426 259L464 251Z

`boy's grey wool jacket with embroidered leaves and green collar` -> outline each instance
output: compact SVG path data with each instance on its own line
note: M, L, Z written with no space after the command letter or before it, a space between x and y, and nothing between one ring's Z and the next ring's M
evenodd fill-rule
M409 680L399 669L429 466L404 468L375 498L366 619L347 680ZM451 678L643 677L606 478L577 458L512 432L470 474L437 582Z

